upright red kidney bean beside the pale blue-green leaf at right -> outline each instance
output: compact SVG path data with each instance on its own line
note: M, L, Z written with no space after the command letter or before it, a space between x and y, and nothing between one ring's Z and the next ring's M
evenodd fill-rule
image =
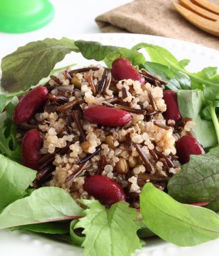
M164 91L164 101L166 103L166 111L163 113L166 120L172 119L175 122L181 119L179 107L177 103L177 94L171 90Z

